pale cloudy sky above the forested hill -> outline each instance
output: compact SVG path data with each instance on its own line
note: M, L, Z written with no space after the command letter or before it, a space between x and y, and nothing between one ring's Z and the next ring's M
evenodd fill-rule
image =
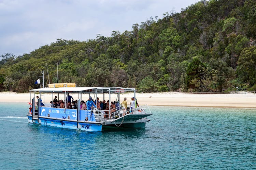
M131 31L198 0L0 0L0 56L23 55L57 38L86 41Z

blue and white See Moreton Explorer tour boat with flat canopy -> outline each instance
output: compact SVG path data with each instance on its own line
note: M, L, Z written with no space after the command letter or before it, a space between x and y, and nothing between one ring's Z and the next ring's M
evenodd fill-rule
M124 96L126 92L133 92L131 97L134 97L136 102L136 89L134 88L47 87L32 89L30 90L31 102L28 103L31 105L27 114L28 122L83 131L102 131L109 127L145 128L146 122L150 121L147 117L152 115L150 108L148 105L136 106L132 109L125 108L120 104L123 101L120 99L120 94ZM52 94L51 101L53 101L53 95L58 96L58 99L63 96L63 101L68 96L73 96L74 99L77 98L77 109L55 108L52 104L47 106L44 100L45 93ZM32 100L31 97L33 97ZM81 101L86 102L90 97L93 101L97 100L97 97L100 97L102 101L116 101L119 106L109 107L108 110L96 107L89 110L81 109ZM66 102L65 100L65 106Z

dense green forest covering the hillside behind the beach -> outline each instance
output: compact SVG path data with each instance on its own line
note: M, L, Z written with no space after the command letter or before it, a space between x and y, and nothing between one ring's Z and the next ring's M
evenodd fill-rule
M59 82L139 92L256 91L255 39L255 0L202 0L180 13L133 24L131 31L112 31L109 37L57 39L28 54L5 53L0 90L40 88L34 82L44 70L45 86Z

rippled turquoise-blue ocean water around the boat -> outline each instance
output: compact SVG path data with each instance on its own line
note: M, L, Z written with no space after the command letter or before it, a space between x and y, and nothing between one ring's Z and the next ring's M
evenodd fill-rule
M82 132L0 103L0 169L255 169L256 109L150 106L145 129Z

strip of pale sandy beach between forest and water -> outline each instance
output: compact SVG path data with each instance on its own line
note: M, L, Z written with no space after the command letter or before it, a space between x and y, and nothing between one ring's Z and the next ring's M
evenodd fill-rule
M35 94L38 96L39 94ZM57 94L53 94L54 96ZM31 93L31 97L34 94ZM71 94L74 99L78 98L77 94ZM130 103L133 93L120 95L120 101L124 97ZM91 95L96 98L96 96ZM102 95L98 95L99 100L103 100ZM42 97L43 98L43 97ZM162 106L191 106L191 107L237 107L237 108L256 108L256 94L243 92L242 94L189 94L180 92L159 92L159 93L137 93L136 98L140 105L162 105ZM63 94L59 95L59 99L64 99ZM87 100L88 95L83 95L82 100ZM0 92L0 102L24 102L30 100L29 93ZM52 94L45 94L45 104L52 100ZM105 95L105 100L109 100ZM113 96L112 99L116 100Z

